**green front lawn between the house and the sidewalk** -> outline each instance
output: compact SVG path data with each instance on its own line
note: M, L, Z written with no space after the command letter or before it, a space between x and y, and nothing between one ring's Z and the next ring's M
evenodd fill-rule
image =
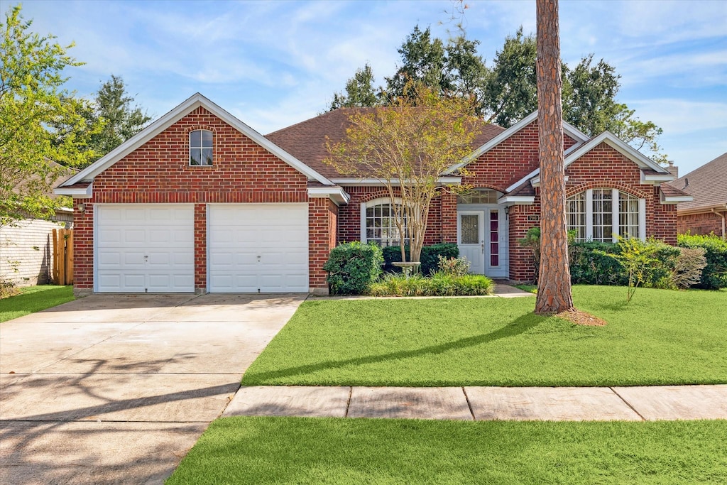
M726 292L575 286L606 326L535 316L534 298L316 300L244 385L610 386L727 383Z

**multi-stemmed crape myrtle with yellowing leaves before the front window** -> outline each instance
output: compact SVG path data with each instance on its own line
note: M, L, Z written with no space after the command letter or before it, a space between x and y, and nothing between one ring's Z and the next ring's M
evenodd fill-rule
M386 107L351 114L346 139L326 143L324 163L385 186L395 208L401 260L406 262L408 240L410 261L419 262L433 199L442 191L462 190L439 179L472 151L477 119L468 98L442 97L414 81L405 89L408 95Z

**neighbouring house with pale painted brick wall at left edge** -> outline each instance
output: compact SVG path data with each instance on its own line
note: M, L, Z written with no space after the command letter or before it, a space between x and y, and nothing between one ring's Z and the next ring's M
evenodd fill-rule
M52 185L67 180L76 170L68 169ZM17 286L51 282L54 229L71 228L73 210L60 208L49 220L20 219L0 227L0 280Z

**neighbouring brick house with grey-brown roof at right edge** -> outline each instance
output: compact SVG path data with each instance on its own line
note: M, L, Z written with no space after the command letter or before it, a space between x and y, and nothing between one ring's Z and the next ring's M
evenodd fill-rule
M670 183L693 200L677 206L677 232L715 233L726 239L727 153Z

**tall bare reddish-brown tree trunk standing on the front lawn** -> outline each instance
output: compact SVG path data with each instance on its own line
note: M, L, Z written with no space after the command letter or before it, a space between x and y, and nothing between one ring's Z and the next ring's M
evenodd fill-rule
M563 167L561 39L558 0L537 0L538 128L540 159L540 270L535 313L573 308L568 266L566 181Z

